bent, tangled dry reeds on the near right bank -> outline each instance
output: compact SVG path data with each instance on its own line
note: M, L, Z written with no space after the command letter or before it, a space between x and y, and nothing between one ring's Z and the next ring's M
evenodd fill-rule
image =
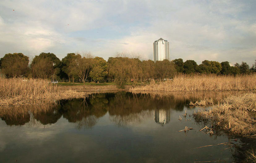
M229 96L208 111L194 113L198 122L207 122L213 128L221 128L239 136L256 136L256 94L253 92Z

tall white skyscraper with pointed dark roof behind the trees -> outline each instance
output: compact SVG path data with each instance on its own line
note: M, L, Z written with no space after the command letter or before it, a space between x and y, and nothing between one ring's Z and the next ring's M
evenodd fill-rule
M170 60L169 42L162 38L156 40L153 43L153 53L154 62L164 59Z

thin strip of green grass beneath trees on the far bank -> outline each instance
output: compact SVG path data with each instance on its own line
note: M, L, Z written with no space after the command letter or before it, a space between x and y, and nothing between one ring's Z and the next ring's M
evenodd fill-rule
M135 83L126 83L125 85L132 85L132 84L135 84ZM147 84L146 82L144 83L136 83L136 85L144 85L144 84ZM58 82L58 85L68 85L68 86L72 86L72 85L83 85L83 83L73 83L73 82L70 82L70 83L66 83L66 82ZM85 83L85 85L100 85L100 86L105 86L105 85L115 85L115 82L104 82L104 83L95 83L95 82L90 82L90 83Z

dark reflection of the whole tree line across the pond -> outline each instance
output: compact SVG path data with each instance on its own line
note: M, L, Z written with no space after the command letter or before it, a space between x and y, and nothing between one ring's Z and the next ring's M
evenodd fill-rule
M238 92L229 92L228 94L232 93ZM23 125L29 122L30 112L41 124L53 124L63 114L63 117L69 122L78 123L78 126L86 126L88 124L87 126L92 127L96 124L99 117L104 116L109 111L110 119L122 126L131 122L142 122L144 117L150 116L148 110L175 109L182 111L190 100L198 100L203 97L221 99L226 95L220 92L171 94L133 94L130 92L98 93L89 96L87 99L62 100L59 104L53 105L43 104L29 107L2 108L0 117L7 125Z

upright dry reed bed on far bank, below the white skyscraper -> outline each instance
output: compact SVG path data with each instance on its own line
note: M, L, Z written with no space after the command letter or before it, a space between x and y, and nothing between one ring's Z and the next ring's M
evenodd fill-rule
M134 91L246 91L256 89L256 74L224 75L177 75L173 80L151 81L146 86L130 88Z

